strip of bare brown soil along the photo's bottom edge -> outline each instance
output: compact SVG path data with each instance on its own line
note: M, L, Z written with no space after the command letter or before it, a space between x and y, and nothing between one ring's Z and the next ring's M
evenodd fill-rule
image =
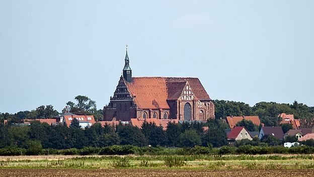
M187 169L0 169L3 177L35 176L312 176L313 169L245 169L245 170L187 170Z

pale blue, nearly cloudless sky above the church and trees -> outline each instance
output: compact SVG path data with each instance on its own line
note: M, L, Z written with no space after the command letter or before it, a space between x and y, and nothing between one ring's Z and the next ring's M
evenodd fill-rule
M213 100L314 106L314 1L0 1L0 112L133 76L198 77Z

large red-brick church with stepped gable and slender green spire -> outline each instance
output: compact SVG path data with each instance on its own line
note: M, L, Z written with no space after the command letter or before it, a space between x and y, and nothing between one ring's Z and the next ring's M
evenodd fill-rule
M104 121L138 119L207 120L214 118L214 104L198 78L132 77L126 51L123 75Z

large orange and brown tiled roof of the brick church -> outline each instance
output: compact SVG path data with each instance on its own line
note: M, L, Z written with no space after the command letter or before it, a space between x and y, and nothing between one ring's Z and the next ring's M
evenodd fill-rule
M170 109L167 100L178 99L186 82L190 84L196 98L211 100L198 78L132 77L132 82L126 82L126 85L131 95L136 96L135 103L138 108Z

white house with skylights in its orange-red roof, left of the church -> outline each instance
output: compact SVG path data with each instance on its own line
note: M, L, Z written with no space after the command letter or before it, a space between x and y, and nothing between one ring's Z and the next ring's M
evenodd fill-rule
M80 116L80 115L70 115L70 116L63 116L63 123L66 123L67 126L71 124L73 119L78 120L80 122L81 128L85 129L86 127L91 127L95 124L94 116Z

